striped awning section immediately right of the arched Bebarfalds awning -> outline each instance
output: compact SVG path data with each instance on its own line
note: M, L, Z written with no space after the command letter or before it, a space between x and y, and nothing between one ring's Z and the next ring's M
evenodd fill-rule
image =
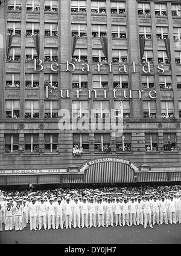
M141 172L136 176L136 182L168 182L167 172Z

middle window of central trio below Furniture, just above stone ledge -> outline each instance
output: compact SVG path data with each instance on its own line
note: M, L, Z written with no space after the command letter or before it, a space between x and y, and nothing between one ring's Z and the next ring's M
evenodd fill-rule
M94 100L94 118L97 120L100 118L109 118L109 101Z

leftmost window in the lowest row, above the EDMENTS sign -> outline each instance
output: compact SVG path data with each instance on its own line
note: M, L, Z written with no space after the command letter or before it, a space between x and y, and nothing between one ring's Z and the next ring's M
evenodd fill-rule
M14 153L19 149L19 134L4 134L5 153Z

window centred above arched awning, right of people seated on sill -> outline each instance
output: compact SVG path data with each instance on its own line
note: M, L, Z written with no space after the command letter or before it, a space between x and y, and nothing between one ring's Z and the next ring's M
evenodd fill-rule
M110 134L95 134L95 152L110 152Z

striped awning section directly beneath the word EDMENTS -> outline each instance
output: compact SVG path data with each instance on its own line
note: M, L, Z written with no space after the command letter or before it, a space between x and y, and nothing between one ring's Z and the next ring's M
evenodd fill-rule
M7 185L28 185L29 183L37 184L37 176L7 176Z

